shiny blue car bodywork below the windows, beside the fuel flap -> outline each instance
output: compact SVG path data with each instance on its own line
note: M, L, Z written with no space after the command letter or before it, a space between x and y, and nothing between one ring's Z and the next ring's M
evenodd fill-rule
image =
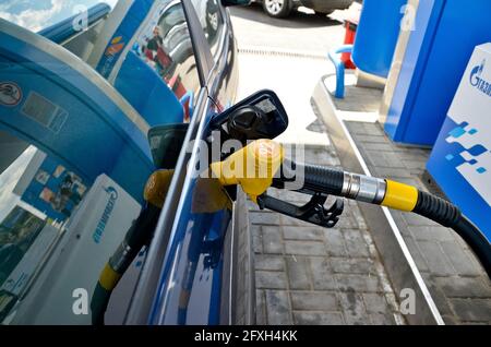
M230 25L229 20L226 25ZM237 73L237 67L231 65L236 55L235 40L231 28L224 34L223 47L217 55L223 55L226 59L217 59L215 69L208 76L211 103L205 107L196 140L205 140L209 119L225 107L223 105L235 101L237 76L233 74ZM189 167L194 167L200 160L199 153L206 151L202 147L203 144L197 141L194 143ZM151 324L224 322L220 316L221 307L228 307L229 299L228 294L221 292L224 280L229 280L229 272L224 268L224 244L231 232L231 214L232 201L219 184L190 177L188 172L164 261L158 290L160 295L156 297L149 318Z

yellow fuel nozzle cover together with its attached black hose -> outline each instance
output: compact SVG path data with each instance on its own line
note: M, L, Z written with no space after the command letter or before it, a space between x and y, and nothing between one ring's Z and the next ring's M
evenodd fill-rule
M236 165L237 163L241 165ZM244 170L247 169L247 170ZM258 202L270 187L302 193L343 196L393 210L412 212L452 228L475 252L491 278L491 246L482 232L451 202L416 187L336 168L296 164L272 140L258 140L211 170L223 186L241 186ZM266 174L266 175L258 175Z

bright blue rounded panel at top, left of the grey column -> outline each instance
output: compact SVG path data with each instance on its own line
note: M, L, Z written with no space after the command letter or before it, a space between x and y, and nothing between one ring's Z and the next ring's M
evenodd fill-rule
M352 61L363 72L386 79L407 0L364 0Z

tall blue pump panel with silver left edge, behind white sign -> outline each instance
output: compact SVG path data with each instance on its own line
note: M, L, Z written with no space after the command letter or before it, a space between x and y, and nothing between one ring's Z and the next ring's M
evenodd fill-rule
M491 40L491 1L420 1L385 122L392 140L432 146L477 45Z

